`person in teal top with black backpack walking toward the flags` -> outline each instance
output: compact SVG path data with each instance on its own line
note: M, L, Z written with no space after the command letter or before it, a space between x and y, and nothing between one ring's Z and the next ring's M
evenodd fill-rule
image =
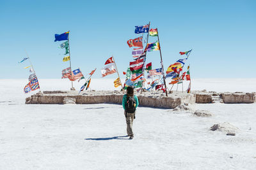
M134 90L132 87L127 87L127 94L124 95L122 105L124 108L124 115L127 125L127 135L130 139L134 137L132 132L132 122L135 118L136 108L139 106L138 97L134 95Z

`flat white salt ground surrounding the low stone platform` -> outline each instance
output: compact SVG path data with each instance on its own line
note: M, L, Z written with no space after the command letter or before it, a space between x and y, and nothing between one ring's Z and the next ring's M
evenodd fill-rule
M126 135L122 106L26 105L26 82L0 80L0 169L256 169L256 103L195 104L214 114L207 118L140 107L129 140L118 137ZM41 87L67 90L62 82L42 80ZM221 122L239 132L209 131Z

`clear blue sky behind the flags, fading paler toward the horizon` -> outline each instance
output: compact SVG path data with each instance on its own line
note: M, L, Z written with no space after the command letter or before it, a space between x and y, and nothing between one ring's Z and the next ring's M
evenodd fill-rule
M61 42L70 30L72 69L100 69L113 55L122 74L132 61L127 40L135 25L159 29L164 69L193 48L186 64L192 78L255 78L256 1L12 1L0 5L0 78L28 78L29 53L38 78L61 78ZM150 37L149 42L156 41ZM160 67L159 51L147 61ZM106 78L115 78L116 74ZM124 76L122 75L124 78Z

